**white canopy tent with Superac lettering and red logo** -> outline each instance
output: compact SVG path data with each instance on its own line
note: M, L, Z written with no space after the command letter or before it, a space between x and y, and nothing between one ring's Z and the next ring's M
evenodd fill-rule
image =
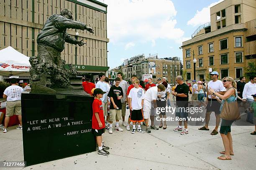
M30 67L29 57L13 47L0 50L0 75L30 76Z

